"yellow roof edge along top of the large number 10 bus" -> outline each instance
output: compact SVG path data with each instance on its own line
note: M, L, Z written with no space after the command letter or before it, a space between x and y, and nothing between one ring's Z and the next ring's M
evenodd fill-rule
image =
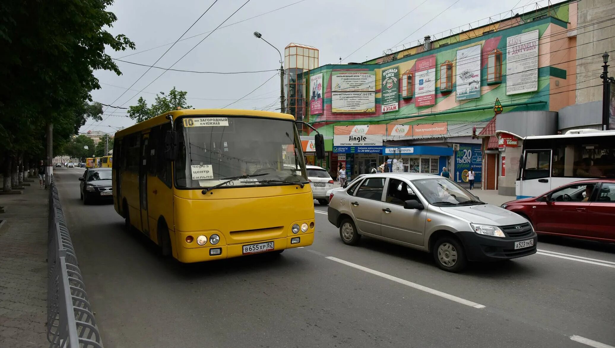
M219 115L228 115L228 116L253 116L253 117L269 117L274 119L284 119L284 120L292 120L295 121L295 117L291 114L282 114L282 113L273 113L271 111L260 111L260 110L242 110L242 109L180 109L169 111L168 113L164 113L162 115L154 116L151 119L140 122L135 125L131 125L128 128L119 130L116 132L116 137L124 137L126 135L132 134L134 132L138 132L140 130L149 129L154 127L155 125L163 124L164 122L169 122L166 118L167 115L173 116L173 121L180 116L186 115L195 115L195 116L219 116Z

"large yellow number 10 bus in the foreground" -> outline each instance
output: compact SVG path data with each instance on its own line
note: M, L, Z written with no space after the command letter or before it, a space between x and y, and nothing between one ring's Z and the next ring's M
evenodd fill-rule
M119 130L116 212L183 263L311 245L297 123L268 111L180 109ZM316 135L320 157L323 143Z

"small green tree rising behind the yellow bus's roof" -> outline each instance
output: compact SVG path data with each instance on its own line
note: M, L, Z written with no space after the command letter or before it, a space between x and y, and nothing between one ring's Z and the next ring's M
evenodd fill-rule
M156 99L154 104L148 107L148 103L143 99L143 97L139 97L137 100L137 105L130 106L128 108L128 114L131 119L137 122L143 122L146 119L151 119L154 116L168 113L172 110L180 109L190 109L191 105L187 104L186 95L188 92L183 90L177 90L173 87L172 90L169 91L167 95L156 95Z

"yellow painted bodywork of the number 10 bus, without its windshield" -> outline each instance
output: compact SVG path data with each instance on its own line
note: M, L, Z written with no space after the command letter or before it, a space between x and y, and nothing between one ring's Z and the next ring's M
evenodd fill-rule
M314 200L309 184L303 188L298 185L223 188L203 194L202 189L176 188L175 180L169 180L169 186L169 182L165 183L160 176L148 172L144 175L145 189L140 189L140 184L143 184L140 173L122 169L128 158L121 154L122 141L134 134L141 135L141 140L146 139L157 125L167 124L170 127L167 115L171 115L173 121L186 115L250 116L294 121L289 114L268 111L181 109L120 130L115 135L113 151L116 157L113 163L114 207L130 226L148 235L159 246L164 243L164 235L159 235L159 231L168 231L172 256L182 263L243 256L242 247L254 243L274 242L274 250L277 251L312 244L315 231ZM164 143L164 136L156 141ZM143 153L141 148L140 154ZM302 152L300 156L303 161ZM137 160L141 161L143 157ZM145 196L141 191L146 192ZM301 226L304 223L309 226L308 231L293 234L293 224ZM199 235L209 239L212 234L220 236L220 242L216 245L211 245L209 240L203 246L196 243ZM300 237L300 242L291 244L291 239L296 237ZM191 239L193 241L188 242ZM220 255L210 255L210 249L218 248Z

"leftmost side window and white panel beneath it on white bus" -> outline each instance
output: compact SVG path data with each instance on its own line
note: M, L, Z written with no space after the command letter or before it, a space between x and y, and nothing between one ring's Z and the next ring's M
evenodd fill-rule
M517 198L537 197L551 189L551 149L526 150L523 156L521 190Z

